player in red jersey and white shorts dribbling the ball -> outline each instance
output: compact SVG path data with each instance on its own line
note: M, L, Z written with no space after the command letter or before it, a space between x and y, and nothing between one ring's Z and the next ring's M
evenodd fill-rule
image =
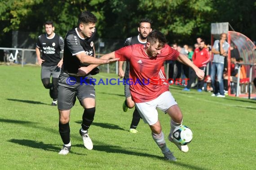
M163 63L166 60L178 60L179 62L190 66L199 77L203 79L204 72L195 66L190 59L185 55L174 50L167 45L167 41L164 35L154 30L147 37L147 43L135 44L132 46L123 47L117 51L103 55L103 59L119 58L119 60L128 60L130 62L129 77L132 80L130 83L130 91L132 100L135 102L143 121L148 123L152 131L152 137L155 143L161 149L165 159L170 161L176 161L176 157L172 155L168 147L166 146L162 127L158 119L159 110L170 115L171 130L168 139L172 140L172 133L176 127L182 125L183 115L176 100L172 97L169 91L169 85L166 83L155 84L155 82L161 81L161 75L159 74ZM87 68L81 68L79 73L86 74L89 69L95 68L97 65L90 65ZM154 77L154 81L152 78ZM149 80L150 82L146 82ZM145 83L145 84L144 84ZM174 143L177 147L183 151L188 152L187 145L179 145Z

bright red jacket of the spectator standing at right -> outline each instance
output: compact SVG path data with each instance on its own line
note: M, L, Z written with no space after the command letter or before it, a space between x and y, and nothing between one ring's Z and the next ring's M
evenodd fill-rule
M197 67L205 67L210 60L209 51L206 48L203 48L201 51L199 48L196 48L192 60Z

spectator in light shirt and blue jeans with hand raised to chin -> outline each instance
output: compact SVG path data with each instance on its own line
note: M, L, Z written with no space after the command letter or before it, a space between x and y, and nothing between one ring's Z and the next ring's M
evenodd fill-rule
M230 44L226 42L227 34L222 33L220 40L215 40L212 53L214 54L211 68L211 81L212 81L212 96L224 98L224 84L223 84L223 69L224 69L224 58L227 55ZM216 85L215 79L217 78ZM219 87L219 89L217 88Z

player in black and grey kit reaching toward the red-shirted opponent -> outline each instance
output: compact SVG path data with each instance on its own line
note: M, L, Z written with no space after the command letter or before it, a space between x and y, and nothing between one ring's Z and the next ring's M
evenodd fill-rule
M93 149L93 142L88 135L88 128L93 123L95 115L95 89L90 82L92 75L99 72L94 68L85 76L77 73L80 68L87 68L89 64L108 64L118 59L97 59L94 53L94 37L96 34L97 17L90 12L79 15L78 27L67 32L63 54L63 66L58 81L58 110L59 133L64 143L61 155L66 155L71 149L70 140L70 112L76 97L84 107L82 124L79 130L85 148ZM82 82L81 82L82 80Z

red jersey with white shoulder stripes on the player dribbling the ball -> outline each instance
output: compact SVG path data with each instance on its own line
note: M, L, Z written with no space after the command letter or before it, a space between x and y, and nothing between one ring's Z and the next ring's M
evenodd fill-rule
M115 58L119 61L130 62L130 91L132 100L137 103L149 102L169 91L167 83L155 84L165 79L163 64L166 60L176 60L179 52L167 44L157 57L146 54L143 44L134 44L115 51Z

